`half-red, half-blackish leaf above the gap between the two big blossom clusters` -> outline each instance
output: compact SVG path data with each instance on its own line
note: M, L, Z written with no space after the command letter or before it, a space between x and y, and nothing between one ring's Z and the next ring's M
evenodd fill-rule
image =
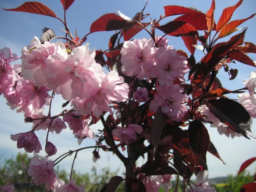
M115 13L107 13L99 17L90 26L90 33L99 31L113 31L118 29L128 29L133 26L134 23L128 23L122 17Z

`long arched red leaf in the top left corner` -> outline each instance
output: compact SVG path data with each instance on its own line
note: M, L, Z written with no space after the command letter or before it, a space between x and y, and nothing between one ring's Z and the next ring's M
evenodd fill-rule
M27 12L27 13L34 13L39 15L47 15L50 17L56 17L55 13L49 7L36 1L23 3L21 6L14 9L3 9L3 10L14 11L14 12Z

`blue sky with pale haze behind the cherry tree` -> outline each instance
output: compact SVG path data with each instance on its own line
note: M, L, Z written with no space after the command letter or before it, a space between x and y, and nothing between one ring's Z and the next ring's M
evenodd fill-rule
M216 0L216 11L215 18L221 15L222 10L227 7L237 3L238 0ZM0 0L0 7L3 8L15 8L20 6L24 1L20 0ZM52 9L58 17L63 18L63 8L60 1L55 0L40 0L39 2L44 3L50 9ZM74 34L75 29L78 32L79 37L83 37L90 30L90 24L96 20L98 17L105 13L114 12L117 13L117 9L123 14L133 17L138 11L140 11L145 5L146 1L143 0L76 0L73 5L67 10L67 23ZM159 18L160 15L164 15L163 6L166 5L181 5L181 6L194 6L203 12L207 12L211 5L211 0L148 0L148 5L146 6L145 13L150 13L151 18ZM242 5L233 14L232 20L239 18L246 18L255 12L256 1L255 0L244 0ZM59 20L52 17L46 17L42 15L34 15L22 12L6 12L0 9L1 18L1 30L0 30L0 49L3 47L10 47L14 53L20 55L21 49L30 44L31 38L38 36L40 38L42 29L48 27L54 30L57 35L64 35L60 28L64 28ZM171 20L172 17L168 18ZM147 18L147 21L149 18ZM164 22L167 22L165 20ZM255 42L255 22L256 18L246 21L240 28L248 26L246 32L245 41ZM163 23L164 23L163 22ZM162 24L163 24L162 23ZM88 36L87 42L90 43L90 48L96 49L106 49L108 47L109 37L113 32L97 32ZM158 35L161 35L159 32ZM149 38L145 32L139 33L137 38ZM169 37L169 44L173 45L175 49L183 49L186 52L187 49L184 46L181 38ZM196 59L200 60L200 51L196 51ZM256 55L250 55L252 58L256 59ZM17 63L20 61L17 61ZM223 81L223 86L227 89L234 90L236 88L243 87L242 81L249 77L249 73L255 68L246 66L237 62L234 68L239 69L238 77L233 81L228 81L228 76L226 73L221 71L218 77ZM10 157L15 155L18 151L23 152L23 149L17 149L16 143L10 140L10 134L17 134L19 132L26 132L31 129L29 123L24 123L23 114L15 113L9 109L5 104L6 101L3 96L0 96L0 155L3 157ZM52 114L58 114L61 111L61 104L63 100L61 97L57 97L53 102L53 112ZM98 128L102 128L102 125L96 125L92 129L96 131ZM256 140L247 140L244 137L239 137L235 139L227 138L225 136L220 136L216 128L208 128L212 143L218 149L219 154L222 159L226 162L226 166L211 154L207 155L207 163L209 167L209 176L224 176L228 174L235 175L244 160L256 156ZM256 134L256 122L252 126L252 131ZM46 132L40 131L38 133L38 138L41 144L45 144ZM79 148L77 141L73 138L72 132L65 130L59 135L50 135L50 141L58 148L58 155L66 152L69 149ZM94 141L84 140L81 147L87 145L93 145ZM92 162L92 150L82 151L75 163L75 169L80 172L90 172L90 167L93 165ZM41 153L44 155L44 153ZM111 153L101 152L101 160L99 160L94 166L102 168L109 166L113 171L120 168L120 173L124 172L122 164L113 157ZM143 160L139 160L138 165L140 165ZM60 163L61 168L69 170L72 164L72 158L64 160ZM252 164L248 170L251 172L256 171L256 163Z

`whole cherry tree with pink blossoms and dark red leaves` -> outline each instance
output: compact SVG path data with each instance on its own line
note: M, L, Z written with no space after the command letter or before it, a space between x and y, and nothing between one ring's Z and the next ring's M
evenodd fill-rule
M119 11L102 15L90 25L90 32L79 38L66 22L73 2L61 0L64 19L39 2L4 9L53 17L64 25L64 37L45 28L40 39L34 37L23 47L20 57L10 48L0 49L0 94L10 108L24 113L25 122L32 123L31 130L11 135L17 148L36 153L28 175L36 185L45 183L47 190L84 192L84 186L76 185L72 178L76 156L79 151L92 149L96 161L102 149L122 161L125 176L112 177L101 192L113 192L123 181L125 192L157 192L160 186L169 191L172 175L183 178L186 192L214 192L208 182L206 154L221 157L206 125L227 137L255 138L251 123L256 117L256 71L248 73L244 87L236 90L222 87L217 77L223 68L230 80L235 79L238 70L232 68L233 61L256 67L247 56L256 53L256 46L244 42L246 28L237 28L255 14L230 21L242 3L239 0L225 8L217 21L212 0L207 13L169 5L164 6L163 15L149 20L145 5L133 17ZM174 20L163 23L174 15ZM148 36L134 38L142 30ZM113 31L108 49L90 49L87 37L105 31ZM165 35L158 36L158 32ZM181 37L189 53L169 45L168 36ZM221 42L222 38L227 41ZM53 41L56 39L59 41ZM196 49L204 53L199 62L194 57ZM21 64L12 65L18 58ZM238 101L230 99L230 93L237 94ZM52 100L57 94L65 100L63 111L52 114ZM49 111L44 111L44 106L49 106ZM90 129L100 123L99 132ZM54 157L58 148L54 140L49 140L49 132L60 134L65 128L70 128L80 143L92 139L96 145L67 149L67 153ZM38 130L46 130L43 147L36 135ZM46 157L37 155L41 150ZM126 150L127 156L121 150ZM72 154L70 181L64 183L54 166ZM146 162L136 167L139 157ZM190 180L193 174L196 183ZM255 183L249 187L256 187ZM249 191L249 187L243 190Z

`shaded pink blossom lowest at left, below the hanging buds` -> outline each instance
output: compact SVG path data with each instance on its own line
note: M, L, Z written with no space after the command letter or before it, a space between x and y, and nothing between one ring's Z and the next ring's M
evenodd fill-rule
M36 185L45 183L47 190L53 190L57 180L53 167L53 161L34 156L29 164L28 175L32 177Z

